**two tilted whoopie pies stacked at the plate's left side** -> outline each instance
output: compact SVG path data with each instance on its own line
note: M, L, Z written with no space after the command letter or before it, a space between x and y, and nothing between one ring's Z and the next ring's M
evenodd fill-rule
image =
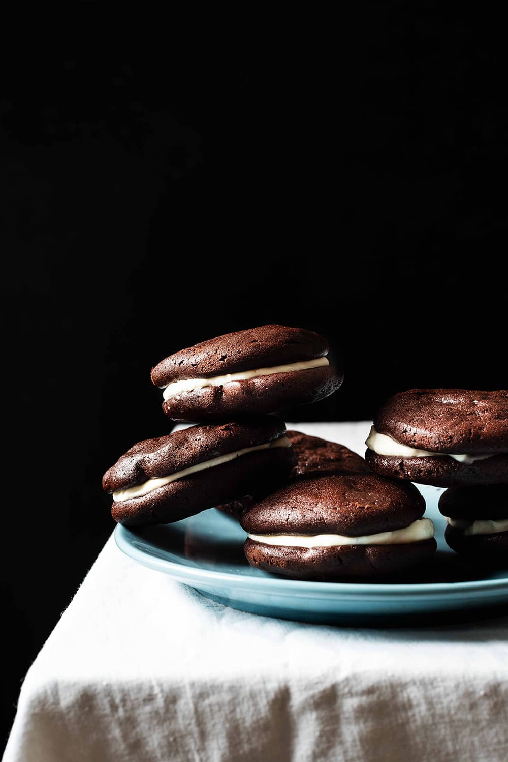
M328 342L302 328L263 325L162 360L151 372L173 421L198 425L138 442L103 476L113 518L169 523L246 495L267 495L294 467L291 440L274 413L335 392L342 373Z

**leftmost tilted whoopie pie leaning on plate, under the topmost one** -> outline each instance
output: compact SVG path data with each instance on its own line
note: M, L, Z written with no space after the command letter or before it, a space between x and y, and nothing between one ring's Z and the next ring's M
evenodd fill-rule
M218 503L265 494L294 465L285 426L274 415L193 426L144 440L103 476L113 518L130 526L170 523Z

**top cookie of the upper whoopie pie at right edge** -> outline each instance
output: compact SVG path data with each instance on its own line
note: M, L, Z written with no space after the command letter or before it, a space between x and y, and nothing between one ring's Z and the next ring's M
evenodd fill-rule
M378 434L433 453L508 451L508 392L410 389L374 416Z

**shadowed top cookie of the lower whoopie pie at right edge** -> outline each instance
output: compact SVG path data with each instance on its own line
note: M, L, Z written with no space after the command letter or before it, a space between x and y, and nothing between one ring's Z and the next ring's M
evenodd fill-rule
M450 487L441 495L439 509L452 519L506 519L508 484Z

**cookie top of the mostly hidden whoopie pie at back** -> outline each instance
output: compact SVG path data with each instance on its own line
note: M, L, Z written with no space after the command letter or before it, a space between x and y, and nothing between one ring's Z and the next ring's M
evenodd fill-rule
M338 471L370 472L364 459L343 444L329 442L320 437L309 437L301 431L286 431L286 436L291 441L297 459L291 479Z

